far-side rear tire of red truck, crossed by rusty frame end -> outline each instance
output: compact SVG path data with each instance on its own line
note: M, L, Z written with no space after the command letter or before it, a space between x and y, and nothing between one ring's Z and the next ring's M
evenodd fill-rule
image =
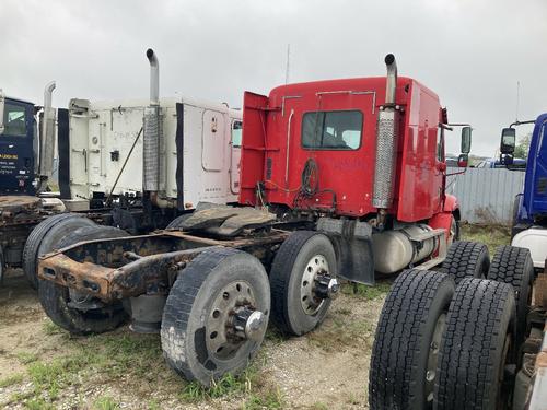
M82 226L60 239L57 246L63 248L82 241L124 236L129 235L113 226ZM116 329L127 319L127 314L119 302L102 308L81 311L68 305L73 297L86 298L85 294L69 291L69 289L54 282L39 281L38 298L47 316L54 324L72 335L103 333ZM96 298L92 298L90 302L93 301Z

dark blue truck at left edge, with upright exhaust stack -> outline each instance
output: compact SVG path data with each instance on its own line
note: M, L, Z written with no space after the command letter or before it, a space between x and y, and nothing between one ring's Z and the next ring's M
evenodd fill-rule
M44 106L0 90L0 281L5 267L21 266L33 227L63 210L44 192L54 171L54 89L55 82L47 84Z

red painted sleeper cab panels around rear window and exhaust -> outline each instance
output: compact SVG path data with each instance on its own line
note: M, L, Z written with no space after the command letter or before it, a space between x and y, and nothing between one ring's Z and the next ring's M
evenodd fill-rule
M330 208L331 190L337 197L336 214L375 213L372 195L376 120L385 101L385 81L381 77L289 84L274 89L268 97L245 93L240 202L256 204L256 187L260 183L265 201L293 208L304 164L313 159L318 167L319 190L328 191L300 202L302 208ZM396 104L403 114L395 199L388 213L403 222L430 220L442 212L444 192L445 166L437 159L439 97L416 80L399 77ZM360 110L361 147L356 151L303 149L303 115L317 110Z

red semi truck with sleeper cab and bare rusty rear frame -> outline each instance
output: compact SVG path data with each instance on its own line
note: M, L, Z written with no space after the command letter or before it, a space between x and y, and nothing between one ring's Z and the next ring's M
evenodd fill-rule
M385 77L246 92L238 206L148 235L73 231L39 259L47 315L77 335L130 318L161 333L172 368L210 385L248 364L269 319L288 335L319 326L341 279L442 262L461 216L444 192L453 127L434 92L385 63Z

